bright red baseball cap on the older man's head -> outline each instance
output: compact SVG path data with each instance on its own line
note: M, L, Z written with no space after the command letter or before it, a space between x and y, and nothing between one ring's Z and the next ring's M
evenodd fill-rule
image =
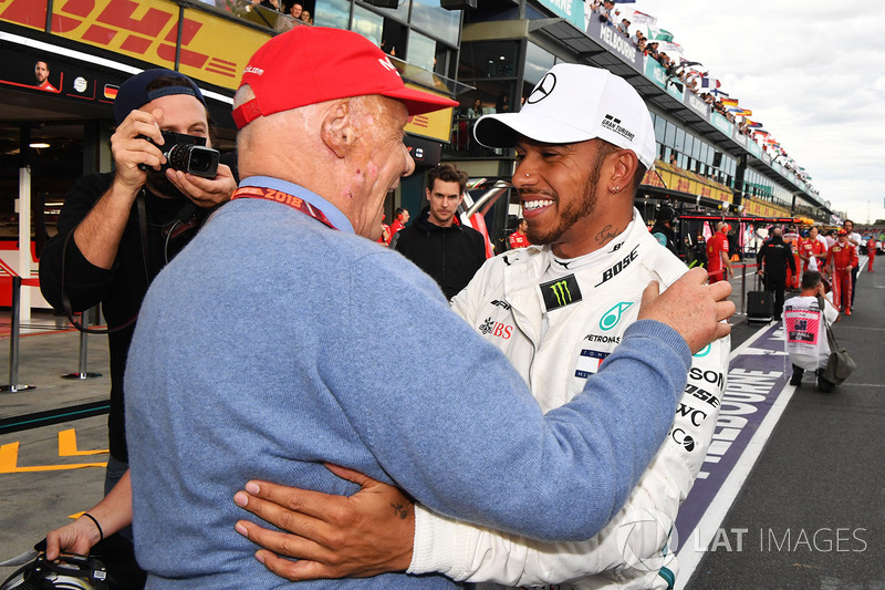
M387 55L372 41L343 29L295 27L261 45L242 74L256 97L233 110L242 128L259 116L335 99L379 94L420 115L458 103L407 89Z

